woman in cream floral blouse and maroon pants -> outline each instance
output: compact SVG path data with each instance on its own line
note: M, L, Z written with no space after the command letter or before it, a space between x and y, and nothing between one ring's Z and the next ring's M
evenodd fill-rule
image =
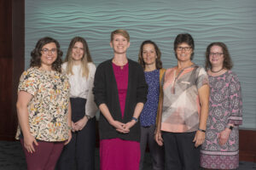
M69 82L61 72L60 44L38 40L30 68L20 77L17 100L20 139L27 169L55 169L64 144L72 138Z

